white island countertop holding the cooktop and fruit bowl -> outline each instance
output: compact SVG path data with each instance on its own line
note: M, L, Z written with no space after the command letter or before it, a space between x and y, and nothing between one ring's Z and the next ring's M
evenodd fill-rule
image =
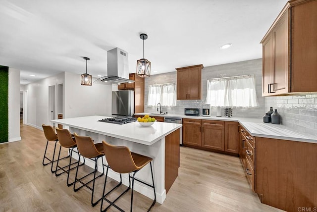
M51 121L69 127L145 145L152 145L161 138L182 127L182 124L164 123L158 121L149 127L143 127L138 122L120 125L98 121L102 118L109 117L94 115L76 118L54 119Z

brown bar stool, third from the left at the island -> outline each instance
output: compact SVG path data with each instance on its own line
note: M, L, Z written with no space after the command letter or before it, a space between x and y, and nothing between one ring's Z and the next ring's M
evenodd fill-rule
M76 133L74 133L74 136L75 136L75 140L76 140L76 143L77 143L77 149L78 149L79 154L81 156L83 156L84 158L92 159L92 160L95 161L95 170L93 172L81 177L80 179L77 179L78 167L79 167L79 161L80 161L80 160L78 160L76 176L75 176L75 182L74 182L74 192L78 191L83 186L85 186L88 189L90 189L92 191L91 205L94 207L94 206L96 206L98 204L99 201L101 201L103 199L103 197L101 197L96 202L93 202L94 190L95 190L95 179L98 178L98 177L103 176L104 173L105 173L105 164L104 164L104 159L103 159L103 157L105 156L105 153L104 153L103 144L102 143L94 144L94 141L89 136L78 136ZM102 163L103 163L102 164L103 165L103 173L101 173L100 175L96 176L96 172L98 171L97 161L100 158L102 159ZM107 166L107 168L108 168L108 166ZM92 180L90 180L87 183L82 182L83 178L85 178L88 175L93 174L93 173L94 173L94 178ZM82 184L82 186L76 188L76 182L77 181L80 182ZM88 183L90 183L92 181L93 181L93 187L88 186ZM118 185L116 185L114 188L112 188L108 193L113 191L115 188L119 187L121 184L122 184L122 178L121 178L121 174L120 174L120 183Z

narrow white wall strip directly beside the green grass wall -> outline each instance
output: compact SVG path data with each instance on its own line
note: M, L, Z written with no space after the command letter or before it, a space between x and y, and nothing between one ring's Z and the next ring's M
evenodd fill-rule
M9 68L8 83L8 140L20 141L20 70Z

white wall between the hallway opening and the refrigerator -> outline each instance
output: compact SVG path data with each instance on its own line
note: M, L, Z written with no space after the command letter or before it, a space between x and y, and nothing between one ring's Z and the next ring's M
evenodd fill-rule
M111 115L111 85L82 86L79 74L65 72L63 87L64 118Z

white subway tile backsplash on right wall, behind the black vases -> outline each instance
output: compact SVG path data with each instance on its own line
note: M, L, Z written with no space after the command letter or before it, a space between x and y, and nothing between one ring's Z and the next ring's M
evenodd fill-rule
M265 97L265 109L270 106L282 116L283 125L317 136L317 94Z

